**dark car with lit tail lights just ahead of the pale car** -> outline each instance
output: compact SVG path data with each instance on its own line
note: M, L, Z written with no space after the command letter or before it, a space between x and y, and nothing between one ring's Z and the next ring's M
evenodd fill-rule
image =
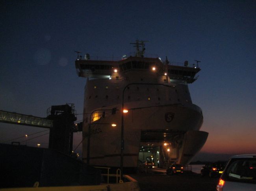
M217 177L223 173L226 166L226 161L217 161L206 164L201 169L201 176Z

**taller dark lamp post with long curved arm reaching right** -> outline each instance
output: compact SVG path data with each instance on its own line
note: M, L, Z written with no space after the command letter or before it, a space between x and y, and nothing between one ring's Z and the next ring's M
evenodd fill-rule
M148 84L148 83L131 83L127 84L122 91L122 122L121 122L121 160L120 160L120 169L121 169L121 180L123 177L123 166L124 166L124 91L129 85L163 85L170 87L166 84Z

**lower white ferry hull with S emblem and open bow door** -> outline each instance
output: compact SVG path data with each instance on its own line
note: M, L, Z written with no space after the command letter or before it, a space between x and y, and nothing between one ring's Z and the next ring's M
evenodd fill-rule
M129 109L124 116L123 166L137 167L147 156L154 156L152 160L159 160L160 166L166 162L188 164L208 136L208 133L198 131L202 121L200 108L193 104L187 107L162 105ZM110 125L113 122L116 127ZM84 128L85 136L88 126ZM84 141L83 156L87 156L86 145ZM143 151L146 147L148 150ZM120 167L120 153L121 112L105 116L100 123L92 122L90 164Z

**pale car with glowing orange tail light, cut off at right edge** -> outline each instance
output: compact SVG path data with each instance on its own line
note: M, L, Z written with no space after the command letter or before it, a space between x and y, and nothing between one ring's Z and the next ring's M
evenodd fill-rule
M256 154L232 156L217 184L217 191L244 190L256 190Z

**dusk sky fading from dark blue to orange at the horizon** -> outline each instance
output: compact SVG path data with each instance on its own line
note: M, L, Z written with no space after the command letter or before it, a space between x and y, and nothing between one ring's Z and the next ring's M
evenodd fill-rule
M73 103L82 114L86 80L74 51L121 58L138 38L148 54L201 61L189 84L209 133L201 153L256 153L254 0L0 0L0 27L0 110L46 117L48 107ZM0 143L44 130L0 123ZM76 147L82 133L74 138ZM37 142L48 147L48 135L27 144Z

